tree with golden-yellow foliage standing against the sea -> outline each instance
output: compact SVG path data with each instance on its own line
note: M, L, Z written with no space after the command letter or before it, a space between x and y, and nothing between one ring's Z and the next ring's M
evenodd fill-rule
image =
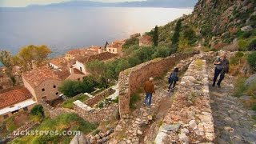
M16 57L14 57L14 62L24 68L25 70L32 69L32 62L34 62L37 66L42 64L42 62L47 58L48 54L50 54L50 49L45 46L24 46L21 50L18 51Z

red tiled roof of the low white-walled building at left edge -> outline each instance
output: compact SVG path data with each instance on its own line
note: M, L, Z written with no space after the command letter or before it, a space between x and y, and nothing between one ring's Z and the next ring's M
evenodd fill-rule
M0 94L0 109L6 106L12 106L15 103L25 101L32 98L29 90L26 88L11 90Z

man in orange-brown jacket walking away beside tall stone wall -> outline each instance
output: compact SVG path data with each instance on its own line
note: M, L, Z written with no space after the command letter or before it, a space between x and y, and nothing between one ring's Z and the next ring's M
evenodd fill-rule
M151 105L152 94L155 93L153 80L154 80L154 78L150 78L149 81L145 82L144 91L146 92L146 96L144 99L144 105L148 105L148 106ZM147 104L148 100L149 100L149 102Z

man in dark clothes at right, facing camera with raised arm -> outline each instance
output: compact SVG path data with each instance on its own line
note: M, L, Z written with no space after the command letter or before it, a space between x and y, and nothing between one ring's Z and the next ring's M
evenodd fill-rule
M222 54L217 60L214 62L215 70L214 70L214 83L212 86L215 86L218 75L220 74L220 78L217 82L217 86L221 87L221 82L224 79L226 73L229 72L229 61L226 59L226 54Z

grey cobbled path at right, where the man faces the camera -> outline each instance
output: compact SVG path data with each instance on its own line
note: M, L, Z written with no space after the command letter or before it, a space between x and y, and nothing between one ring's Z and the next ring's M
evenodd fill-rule
M232 96L234 77L226 74L222 88L212 87L214 66L208 64L211 109L214 116L215 142L224 143L256 143L256 116L252 110L247 110L238 98Z

